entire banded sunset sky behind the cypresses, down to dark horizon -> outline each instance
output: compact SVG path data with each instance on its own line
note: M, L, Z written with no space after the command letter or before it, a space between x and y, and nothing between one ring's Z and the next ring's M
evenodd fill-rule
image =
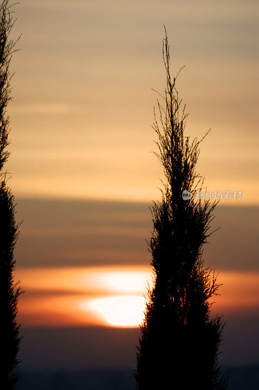
M6 169L24 220L16 249L16 278L26 291L21 364L36 367L36 339L38 366L51 354L55 339L44 349L44 331L87 327L103 343L128 332L128 347L114 347L113 362L123 355L134 365L127 356L151 283L148 206L163 178L150 153L151 88L163 92L166 81L163 24L172 75L185 65L177 87L189 113L186 135L201 138L211 128L197 169L208 191L242 192L218 206L213 227L222 228L204 251L223 283L213 309L229 324L222 361L259 362L258 1L23 0L14 10L12 37L22 36L11 64ZM91 345L86 366L97 353ZM53 356L65 367L61 344Z

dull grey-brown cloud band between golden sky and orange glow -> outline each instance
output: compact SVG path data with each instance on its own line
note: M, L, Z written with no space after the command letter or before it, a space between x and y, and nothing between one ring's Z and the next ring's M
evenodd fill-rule
M16 248L25 266L148 265L152 231L148 203L18 199L24 219ZM221 207L204 247L205 264L220 270L259 271L258 207Z

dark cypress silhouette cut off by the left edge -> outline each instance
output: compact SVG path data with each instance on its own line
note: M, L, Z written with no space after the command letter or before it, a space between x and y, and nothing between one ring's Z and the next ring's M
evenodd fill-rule
M6 183L4 163L9 157L9 117L6 114L10 97L9 64L16 42L9 39L13 17L8 0L0 5L0 389L14 389L14 372L19 351L19 325L17 323L20 287L14 282L14 248L19 225L15 221L14 197Z

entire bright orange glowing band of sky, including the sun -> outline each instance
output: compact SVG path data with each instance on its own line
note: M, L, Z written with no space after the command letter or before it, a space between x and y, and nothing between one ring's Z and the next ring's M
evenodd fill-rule
M17 271L26 293L19 320L25 327L138 327L145 310L150 267L25 268ZM223 271L213 312L259 309L259 273Z

